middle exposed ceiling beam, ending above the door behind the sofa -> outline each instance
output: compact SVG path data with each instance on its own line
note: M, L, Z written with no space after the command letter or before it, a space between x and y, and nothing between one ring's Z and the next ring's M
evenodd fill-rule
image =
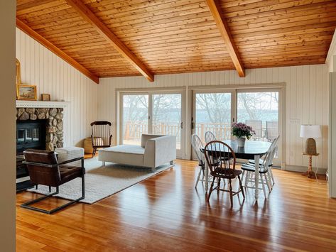
M134 55L134 53L132 53L126 47L126 45L124 45L124 43L122 43L121 40L119 40L119 38L117 38L116 35L112 33L112 31L109 30L109 28L107 28L107 26L105 26L104 23L102 23L102 21L100 21L99 18L97 18L97 16L95 16L93 12L90 11L90 9L87 8L85 4L82 3L82 1L80 0L66 0L66 1L67 1L67 4L72 6L72 8L74 8L78 13L80 13L80 15L87 22L90 23L92 27L100 35L102 35L103 38L107 40L108 43L113 45L113 47L119 53L121 53L121 55L123 55L126 58L126 60L129 60L129 62L131 62L131 64L136 68L136 70L141 72L141 75L146 77L147 80L149 80L150 82L154 81L154 76L151 73L151 71L148 70L146 65L143 64L143 62L141 62L141 60L139 60L139 58L136 57L136 55Z

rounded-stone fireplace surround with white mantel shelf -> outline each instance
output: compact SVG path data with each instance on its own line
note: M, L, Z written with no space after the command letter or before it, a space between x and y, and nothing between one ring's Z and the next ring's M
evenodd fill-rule
M54 150L64 143L64 108L67 102L16 101L16 120L47 120L45 149Z

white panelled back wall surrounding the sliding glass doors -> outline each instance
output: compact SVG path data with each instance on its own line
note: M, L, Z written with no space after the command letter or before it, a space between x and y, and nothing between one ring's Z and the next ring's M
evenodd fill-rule
M246 70L240 78L236 71L195 72L177 75L156 75L155 82L144 77L114 77L100 79L99 119L114 122L116 132L116 89L156 87L189 87L196 85L225 85L286 83L286 165L308 165L301 155L305 141L299 137L300 124L323 125L323 138L318 139L320 168L327 168L328 82L326 65L273 67ZM115 141L115 138L114 138Z

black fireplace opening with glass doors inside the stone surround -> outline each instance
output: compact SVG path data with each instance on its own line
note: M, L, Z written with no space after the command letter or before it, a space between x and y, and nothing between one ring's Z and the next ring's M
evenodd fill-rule
M16 121L16 155L26 149L45 150L47 120Z

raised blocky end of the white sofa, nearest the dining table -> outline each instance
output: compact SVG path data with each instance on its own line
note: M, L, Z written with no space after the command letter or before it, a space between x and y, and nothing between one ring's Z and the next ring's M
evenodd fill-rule
M176 136L160 136L147 141L143 165L156 168L175 159Z

